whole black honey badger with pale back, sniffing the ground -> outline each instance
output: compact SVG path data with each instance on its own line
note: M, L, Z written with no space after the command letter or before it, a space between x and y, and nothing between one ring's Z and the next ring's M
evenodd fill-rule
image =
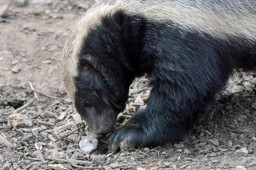
M236 72L255 71L254 0L101 0L70 29L64 85L96 139L110 133L129 87L147 105L112 133L109 150L183 139Z

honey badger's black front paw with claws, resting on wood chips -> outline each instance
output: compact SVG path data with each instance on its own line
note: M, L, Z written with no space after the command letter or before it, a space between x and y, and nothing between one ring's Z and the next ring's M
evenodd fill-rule
M119 128L110 136L108 150L116 152L119 147L121 150L143 147L145 138L145 133L141 130L140 125L127 125Z

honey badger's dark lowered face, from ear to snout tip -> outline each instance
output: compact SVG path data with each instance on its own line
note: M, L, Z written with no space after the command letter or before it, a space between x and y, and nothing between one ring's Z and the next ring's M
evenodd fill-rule
M125 108L128 92L123 93L122 87L114 90L111 81L83 60L79 67L75 107L94 138L102 139L112 131L116 116Z

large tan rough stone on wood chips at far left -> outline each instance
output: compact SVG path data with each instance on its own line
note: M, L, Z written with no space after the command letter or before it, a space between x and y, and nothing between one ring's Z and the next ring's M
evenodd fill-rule
M11 122L11 125L13 127L32 127L33 123L31 120L25 116L21 115L19 113L14 113L9 116L9 121Z

